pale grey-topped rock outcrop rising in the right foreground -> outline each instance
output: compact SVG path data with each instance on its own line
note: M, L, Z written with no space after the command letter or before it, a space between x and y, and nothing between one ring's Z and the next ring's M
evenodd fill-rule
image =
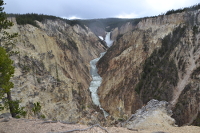
M135 114L124 123L124 127L129 129L144 129L151 127L170 127L175 125L175 120L171 118L172 110L166 101L152 99L146 106L137 110Z

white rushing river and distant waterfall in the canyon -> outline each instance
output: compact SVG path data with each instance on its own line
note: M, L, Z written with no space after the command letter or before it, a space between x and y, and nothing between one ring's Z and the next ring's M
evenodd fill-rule
M107 46L110 47L113 43L112 40L110 40L110 32L108 32L106 34L106 38L105 38L105 42L107 43ZM92 81L90 83L90 87L89 90L91 92L91 97L92 97L92 101L96 106L99 106L99 108L103 111L104 116L107 117L109 114L103 109L101 108L101 104L99 102L99 96L97 94L98 88L101 85L102 82L102 78L101 76L97 73L97 67L96 67L96 63L99 61L99 59L101 59L101 57L104 56L106 52L101 53L99 58L93 59L90 61L90 74L92 76Z

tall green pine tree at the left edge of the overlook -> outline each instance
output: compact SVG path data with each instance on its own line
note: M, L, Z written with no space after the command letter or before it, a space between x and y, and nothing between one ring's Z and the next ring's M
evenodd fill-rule
M3 12L5 5L3 0L0 0L0 110L5 107L10 110L12 117L18 117L17 115L25 115L23 108L19 107L18 100L12 100L11 88L14 84L10 82L10 78L14 74L13 61L9 58L13 47L13 38L17 36L17 33L9 34L5 29L9 29L13 26L13 23L7 20L6 13Z

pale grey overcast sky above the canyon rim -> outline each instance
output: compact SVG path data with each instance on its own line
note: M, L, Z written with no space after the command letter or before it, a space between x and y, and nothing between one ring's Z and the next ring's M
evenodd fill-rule
M189 7L200 0L4 0L6 13L38 13L68 19L139 18Z

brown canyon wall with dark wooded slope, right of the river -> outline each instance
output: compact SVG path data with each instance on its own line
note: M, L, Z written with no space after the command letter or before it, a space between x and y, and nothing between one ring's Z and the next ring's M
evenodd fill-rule
M97 67L101 105L115 119L154 98L171 102L179 125L199 120L199 12L144 18L122 35L113 30L116 41Z

